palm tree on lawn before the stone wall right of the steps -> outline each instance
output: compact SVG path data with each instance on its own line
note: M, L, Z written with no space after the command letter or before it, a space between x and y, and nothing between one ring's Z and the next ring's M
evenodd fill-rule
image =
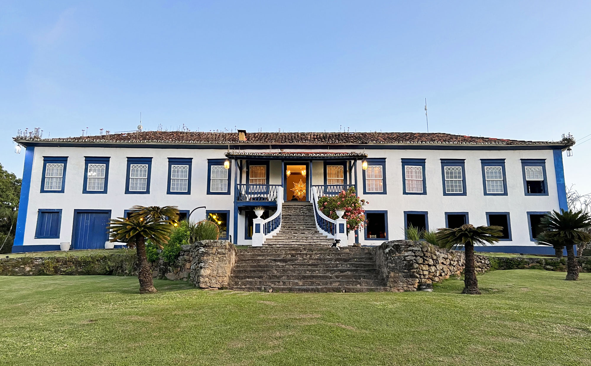
M463 246L466 253L464 269L464 289L462 293L480 295L478 279L476 279L476 262L474 260L475 244L494 244L502 236L501 226L479 226L463 224L458 228L437 229L437 243L440 247L454 249Z

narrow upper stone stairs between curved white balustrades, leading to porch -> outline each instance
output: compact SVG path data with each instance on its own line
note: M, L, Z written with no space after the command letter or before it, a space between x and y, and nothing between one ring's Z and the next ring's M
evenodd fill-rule
M314 208L310 202L287 201L281 208L281 229L265 240L264 246L329 246L335 240L321 234L316 228Z

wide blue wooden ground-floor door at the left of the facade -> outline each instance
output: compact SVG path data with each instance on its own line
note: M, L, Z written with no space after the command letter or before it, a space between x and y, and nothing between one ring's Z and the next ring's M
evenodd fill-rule
M72 249L105 249L111 213L77 212Z

